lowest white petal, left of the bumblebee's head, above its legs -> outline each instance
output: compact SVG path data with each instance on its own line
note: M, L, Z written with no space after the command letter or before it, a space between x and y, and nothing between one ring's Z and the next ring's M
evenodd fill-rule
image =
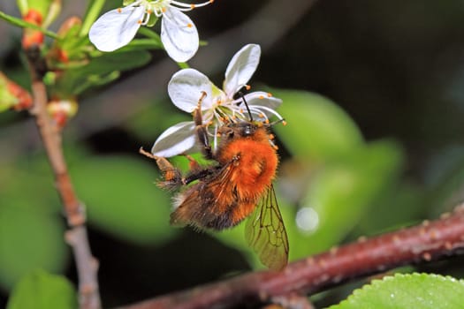
M196 136L193 121L172 125L164 131L151 148L153 155L169 158L181 155L195 148Z

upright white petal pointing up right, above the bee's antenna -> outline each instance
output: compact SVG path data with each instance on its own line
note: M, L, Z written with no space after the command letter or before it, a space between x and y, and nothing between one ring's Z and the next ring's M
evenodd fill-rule
M261 48L257 44L247 44L233 57L225 71L224 91L232 97L233 94L247 84L259 64Z

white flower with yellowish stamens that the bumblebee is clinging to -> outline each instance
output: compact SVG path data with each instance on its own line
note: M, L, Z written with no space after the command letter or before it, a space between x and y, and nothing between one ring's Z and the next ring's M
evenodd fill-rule
M214 137L214 132L224 124L224 119L251 120L247 106L253 120L268 123L272 116L282 120L274 110L282 101L269 93L258 91L243 95L247 106L241 96L234 98L241 88L249 88L247 82L256 71L260 55L261 48L256 44L248 44L240 49L225 71L224 90L217 88L208 77L194 69L176 72L168 85L171 101L179 109L192 113L198 106L202 92L206 93L202 99L202 121L212 126L210 130ZM196 144L194 128L193 121L171 126L156 139L151 152L153 155L170 157L192 151Z

